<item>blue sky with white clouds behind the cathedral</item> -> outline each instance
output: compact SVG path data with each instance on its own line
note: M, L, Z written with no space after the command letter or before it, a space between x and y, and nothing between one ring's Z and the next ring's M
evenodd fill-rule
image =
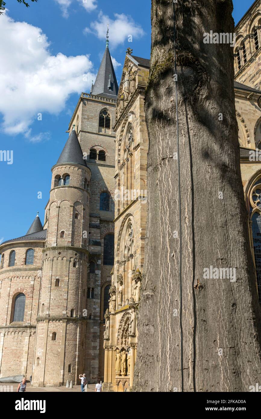
M13 164L0 161L0 242L25 234L37 211L43 222L51 167L81 91L89 92L95 80L107 23L118 81L127 47L150 57L150 0L38 0L28 9L6 3L8 16L0 16L0 150L13 150ZM237 23L253 2L233 3Z

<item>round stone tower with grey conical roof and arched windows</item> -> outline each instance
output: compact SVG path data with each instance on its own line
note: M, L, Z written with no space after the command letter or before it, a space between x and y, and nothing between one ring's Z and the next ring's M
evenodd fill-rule
M90 176L73 128L52 168L33 385L77 383L84 368Z

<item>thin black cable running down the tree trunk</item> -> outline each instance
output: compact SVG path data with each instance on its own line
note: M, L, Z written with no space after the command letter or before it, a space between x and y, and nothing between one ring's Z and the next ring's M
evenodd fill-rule
M183 380L183 329L182 329L182 279L181 279L181 188L180 188L180 164L179 164L179 138L178 138L178 80L177 80L177 62L176 62L176 18L175 2L173 0L173 27L174 27L174 71L176 84L176 121L177 121L177 154L178 154L178 209L179 209L179 295L180 295L180 338L181 338L181 391L184 390Z

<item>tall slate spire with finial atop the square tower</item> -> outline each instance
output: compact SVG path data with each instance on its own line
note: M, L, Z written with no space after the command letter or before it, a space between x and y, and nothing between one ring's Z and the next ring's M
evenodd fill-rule
M107 27L106 48L101 60L101 65L92 87L92 95L103 96L106 98L116 99L118 94L118 83L111 61L111 54L109 51L109 26Z

